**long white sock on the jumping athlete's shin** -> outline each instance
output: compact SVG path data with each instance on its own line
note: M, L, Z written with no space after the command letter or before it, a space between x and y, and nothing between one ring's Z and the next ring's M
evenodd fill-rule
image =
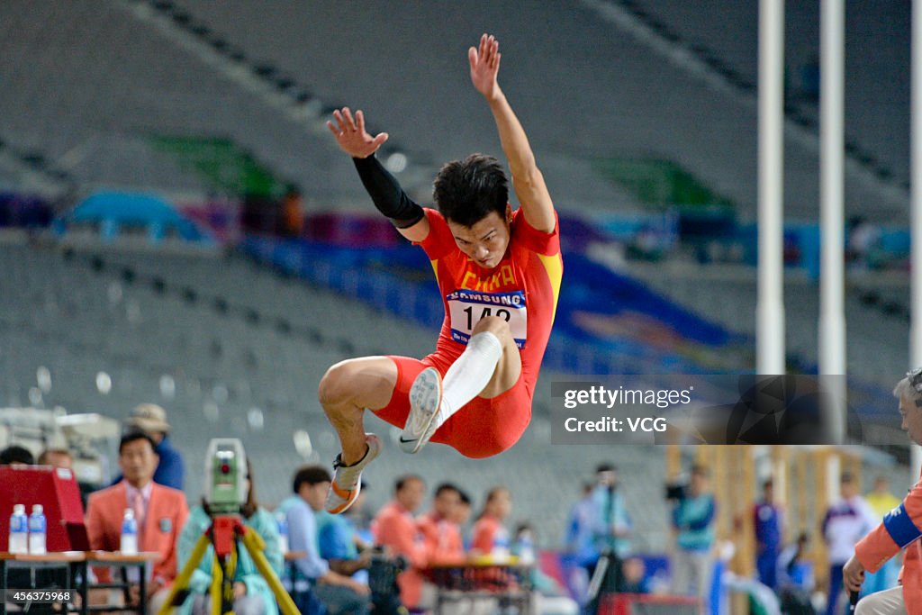
M490 331L481 331L470 337L467 349L452 363L443 378L442 406L435 419L440 425L490 384L500 358L502 342L499 337Z

